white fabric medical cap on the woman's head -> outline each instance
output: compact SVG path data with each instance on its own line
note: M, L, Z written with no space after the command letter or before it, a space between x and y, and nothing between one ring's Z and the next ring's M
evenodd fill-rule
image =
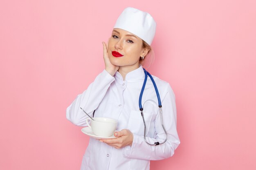
M133 33L151 45L155 36L156 26L157 23L149 13L127 7L119 15L114 28L124 29Z

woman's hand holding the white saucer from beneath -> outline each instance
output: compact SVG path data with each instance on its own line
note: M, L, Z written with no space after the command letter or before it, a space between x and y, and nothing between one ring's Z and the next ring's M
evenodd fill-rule
M121 131L114 133L114 139L100 139L99 141L104 142L110 146L113 146L117 149L123 148L125 146L132 146L133 134L128 129L123 129Z

